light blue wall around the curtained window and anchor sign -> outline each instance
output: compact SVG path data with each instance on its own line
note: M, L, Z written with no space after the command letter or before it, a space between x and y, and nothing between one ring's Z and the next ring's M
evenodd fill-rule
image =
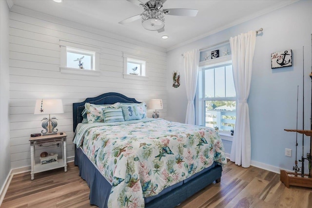
M304 129L310 130L311 11L312 1L301 0L169 51L167 59L168 77L174 70L178 70L181 74L181 86L177 89L173 88L171 79L167 79L168 119L178 122L185 121L187 99L182 53L222 42L230 37L262 27L263 33L256 38L251 90L248 99L252 134L252 161L292 170L295 159L296 134L285 132L284 129L295 129L296 127L297 85L299 85L298 128L302 129L302 46L305 48ZM271 69L271 53L287 49L292 49L292 67ZM298 138L300 138L298 140L298 155L301 157L302 134L299 134ZM305 137L305 154L309 151L309 145L310 138ZM292 157L285 156L285 148L292 149Z

